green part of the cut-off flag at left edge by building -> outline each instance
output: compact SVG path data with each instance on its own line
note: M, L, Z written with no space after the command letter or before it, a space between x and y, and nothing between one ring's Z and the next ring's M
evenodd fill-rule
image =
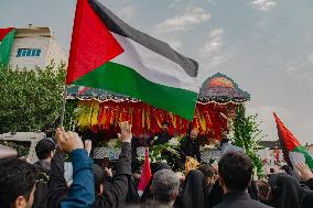
M4 65L9 64L14 36L15 36L15 30L12 30L4 36L4 39L2 40L2 43L0 44L0 63L1 64L4 64Z

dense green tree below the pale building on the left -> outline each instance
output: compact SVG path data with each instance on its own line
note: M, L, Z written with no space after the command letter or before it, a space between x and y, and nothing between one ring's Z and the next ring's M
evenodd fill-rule
M0 66L0 133L36 131L61 114L65 64L46 68Z

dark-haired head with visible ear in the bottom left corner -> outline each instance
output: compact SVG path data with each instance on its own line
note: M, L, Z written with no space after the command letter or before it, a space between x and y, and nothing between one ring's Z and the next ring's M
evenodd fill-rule
M34 200L36 168L19 158L0 160L1 208L31 208Z

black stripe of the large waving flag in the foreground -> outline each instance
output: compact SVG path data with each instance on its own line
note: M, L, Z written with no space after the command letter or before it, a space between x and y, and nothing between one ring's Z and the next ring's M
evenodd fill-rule
M132 41L143 45L154 53L158 53L171 59L172 62L175 62L185 70L188 76L197 76L198 64L194 59L187 58L182 54L175 52L170 47L168 43L159 41L129 26L97 0L89 0L89 3L111 32L131 39Z

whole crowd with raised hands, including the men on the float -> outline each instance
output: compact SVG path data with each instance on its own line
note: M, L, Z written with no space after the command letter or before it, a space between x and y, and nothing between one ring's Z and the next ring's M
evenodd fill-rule
M191 131L182 154L199 160ZM165 133L149 141L169 141ZM30 164L0 150L0 207L176 207L176 208L309 208L313 207L313 173L303 163L295 172L253 178L251 160L228 151L217 165L202 164L179 176L166 163L151 164L152 177L138 194L140 175L131 169L131 125L121 123L121 153L112 168L94 163L91 142L77 133L56 130L35 149L39 162ZM183 157L183 160L185 158ZM71 162L72 174L67 174Z

